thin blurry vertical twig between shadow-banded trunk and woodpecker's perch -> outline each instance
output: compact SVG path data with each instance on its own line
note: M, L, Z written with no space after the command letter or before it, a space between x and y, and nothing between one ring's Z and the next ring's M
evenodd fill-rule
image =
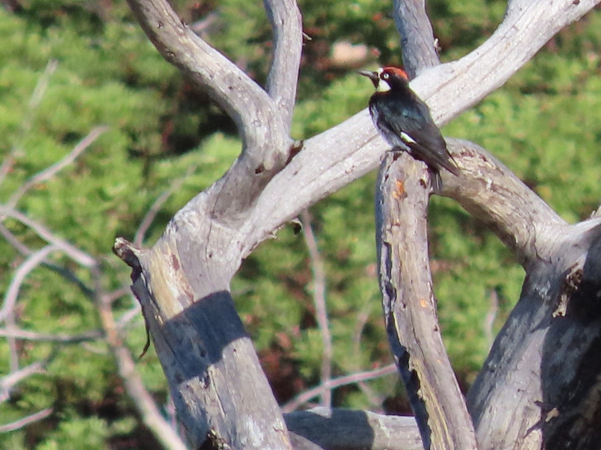
M315 304L315 315L319 332L322 335L322 368L321 382L326 386L332 377L332 336L329 330L328 309L326 308L326 273L323 268L323 260L317 248L317 240L311 227L311 214L308 209L301 213L303 224L303 233L307 249L309 250L309 259L311 261L311 271L313 271L313 302ZM332 392L325 389L322 394L322 404L325 407L332 407Z

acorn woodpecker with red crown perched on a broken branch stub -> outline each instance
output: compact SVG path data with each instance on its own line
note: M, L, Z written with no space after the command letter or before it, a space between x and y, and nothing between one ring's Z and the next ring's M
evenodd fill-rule
M376 72L359 73L368 77L376 88L369 103L376 128L393 150L408 151L413 158L427 164L432 189L440 194L440 170L444 168L459 175L459 167L432 120L429 107L409 88L405 71L386 66Z

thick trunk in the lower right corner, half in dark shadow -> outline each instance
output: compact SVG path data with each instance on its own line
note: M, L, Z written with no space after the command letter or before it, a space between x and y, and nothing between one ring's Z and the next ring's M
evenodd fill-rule
M601 351L601 218L552 235L469 391L481 448L594 448L601 438L587 419L599 407L590 355Z

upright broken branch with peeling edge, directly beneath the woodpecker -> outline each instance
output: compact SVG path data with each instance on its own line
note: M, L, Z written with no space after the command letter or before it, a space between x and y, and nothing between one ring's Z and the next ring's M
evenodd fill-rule
M426 164L389 152L376 191L376 250L386 332L424 448L476 449L474 427L442 343L427 240ZM417 165L422 167L416 167Z

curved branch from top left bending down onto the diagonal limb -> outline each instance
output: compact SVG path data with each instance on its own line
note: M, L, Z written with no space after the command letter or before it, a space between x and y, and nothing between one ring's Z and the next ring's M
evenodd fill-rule
M194 34L166 0L128 0L128 3L165 59L206 89L236 122L243 143L242 154L207 191L208 207L209 214L216 218L243 220L267 182L290 158L292 141L281 111L239 67ZM287 68L290 69L289 65ZM192 205L195 209L206 208L198 202Z

